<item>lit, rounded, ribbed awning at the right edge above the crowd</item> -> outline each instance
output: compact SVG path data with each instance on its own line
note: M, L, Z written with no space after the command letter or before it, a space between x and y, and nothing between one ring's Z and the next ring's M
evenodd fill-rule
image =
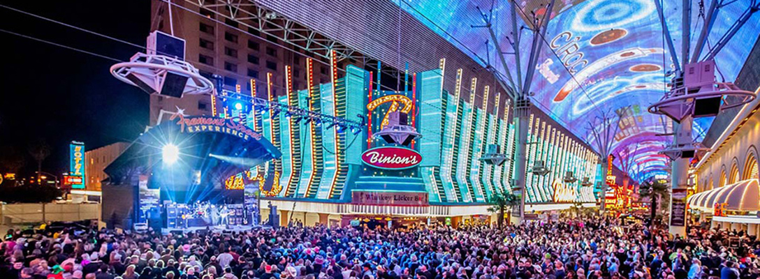
M743 180L737 183L696 193L689 197L689 207L711 211L716 203L725 203L727 210L760 210L760 183L757 179Z

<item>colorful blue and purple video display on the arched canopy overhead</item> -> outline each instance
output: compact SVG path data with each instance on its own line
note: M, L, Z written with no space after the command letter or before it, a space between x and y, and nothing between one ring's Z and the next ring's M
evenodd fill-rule
M679 52L677 55L684 59L680 53L682 1L654 1L663 1L667 25ZM622 121L613 144L613 154L621 153L625 157L617 158L615 164L620 167L623 161L629 160L627 156L635 156L629 174L639 181L667 173L667 158L657 151L672 141L672 136L656 136L672 130L670 119L646 111L648 105L657 102L668 89L670 77L666 74L673 70L654 1L556 0L546 36L541 38L544 45L530 86L530 92L534 92L534 104L589 143L593 138L588 136L591 133L587 121L610 109L615 111ZM518 2L515 12L520 34L519 49L530 49L533 39L533 33L522 27L531 27L534 15L543 17L546 14L544 7L549 2ZM717 13L708 43L701 52L703 57L752 4L750 1L726 3ZM397 4L480 64L485 66L486 61L490 61L502 75L508 71L518 83L518 71L513 67L515 55L505 55L510 67L505 70L496 56L489 30L473 27L484 24L479 7L486 15L491 14L492 30L499 38L502 52L512 52L511 1L401 0ZM704 26L702 14L707 14L710 1L705 0L703 4L701 1L692 3L692 53ZM736 80L749 55L749 45L758 37L758 25L760 13L755 13L715 57L720 71L719 81ZM527 65L527 51L520 61L522 67ZM525 77L524 69L521 77ZM695 121L695 139L701 140L705 136L712 120L698 118ZM642 143L645 143L644 149Z

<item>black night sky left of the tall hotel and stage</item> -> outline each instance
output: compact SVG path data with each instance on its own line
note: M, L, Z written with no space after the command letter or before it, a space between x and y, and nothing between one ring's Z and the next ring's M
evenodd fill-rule
M150 32L150 0L0 4L138 45L145 45ZM144 52L2 7L0 29L122 61ZM51 146L43 171L60 174L68 171L71 140L84 142L87 149L129 142L147 125L148 96L109 74L115 61L4 32L0 42L0 157L8 150L24 155L22 174L36 171L27 152L32 141L43 139Z

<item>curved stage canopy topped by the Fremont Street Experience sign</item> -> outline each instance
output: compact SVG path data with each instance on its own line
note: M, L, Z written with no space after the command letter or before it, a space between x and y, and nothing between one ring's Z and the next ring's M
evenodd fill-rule
M173 152L172 161L167 152ZM281 156L268 139L236 119L178 113L141 134L105 171L115 183L136 173L150 174L150 183L198 198L207 194L207 189L196 189L201 185L221 187L227 177Z

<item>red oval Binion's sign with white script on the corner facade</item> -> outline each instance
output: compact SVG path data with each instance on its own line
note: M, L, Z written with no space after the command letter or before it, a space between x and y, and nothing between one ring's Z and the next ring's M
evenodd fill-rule
M420 165L423 156L412 149L382 146L365 151L362 154L362 161L375 168L403 170Z

